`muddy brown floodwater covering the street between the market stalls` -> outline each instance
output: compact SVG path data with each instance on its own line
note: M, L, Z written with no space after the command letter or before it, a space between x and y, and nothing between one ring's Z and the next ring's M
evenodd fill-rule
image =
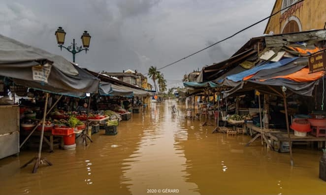
M122 121L118 134L93 134L75 150L42 153L53 166L19 167L38 152L21 151L19 157L0 160L2 195L325 195L319 179L317 149L277 153L248 135L211 133L215 127L171 116L174 100L152 103L142 113ZM170 190L170 191L169 191ZM173 193L174 192L174 193Z

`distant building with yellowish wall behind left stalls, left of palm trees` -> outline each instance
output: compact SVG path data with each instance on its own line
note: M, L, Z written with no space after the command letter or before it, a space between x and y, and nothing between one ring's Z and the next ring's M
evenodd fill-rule
M103 72L104 74L116 77L119 80L129 83L130 85L138 86L142 89L152 90L152 85L147 83L147 77L137 72L137 70L123 70L123 72Z

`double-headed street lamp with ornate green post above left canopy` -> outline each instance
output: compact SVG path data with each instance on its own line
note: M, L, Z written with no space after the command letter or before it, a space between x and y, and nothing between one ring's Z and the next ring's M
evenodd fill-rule
M58 42L58 46L60 47L61 51L62 48L65 48L66 50L68 50L68 52L72 53L72 61L75 62L75 54L85 50L85 52L87 53L88 47L90 46L90 42L91 42L91 36L87 31L84 31L83 35L81 36L82 39L82 43L83 43L83 47L77 47L75 46L75 39L73 39L73 42L70 46L65 47L63 44L65 43L65 31L62 29L62 27L59 27L58 30L55 33L56 37L57 37L57 42Z

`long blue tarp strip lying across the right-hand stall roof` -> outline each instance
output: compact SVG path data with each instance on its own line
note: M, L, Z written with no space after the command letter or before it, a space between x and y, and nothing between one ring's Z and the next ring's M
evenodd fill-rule
M265 64L265 65L257 65L255 67L249 69L249 70L245 70L245 71L242 71L242 72L237 73L237 74L229 75L229 76L226 77L226 79L234 81L234 82L239 82L239 81L242 81L244 77L252 75L252 74L256 74L260 70L281 67L283 65L287 65L287 64L293 62L297 58L298 57L285 58L283 60L280 60L279 62L268 63L268 64ZM220 80L219 83L220 82L223 82L223 80Z

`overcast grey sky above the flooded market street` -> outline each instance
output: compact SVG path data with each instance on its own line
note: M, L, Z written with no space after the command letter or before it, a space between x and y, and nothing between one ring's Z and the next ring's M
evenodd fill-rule
M72 61L60 51L83 31L90 50L76 63L94 71L147 73L179 60L270 15L275 0L1 0L0 33ZM168 88L182 86L184 74L230 57L251 37L261 36L267 20L195 56L161 70ZM179 83L177 83L179 82Z

